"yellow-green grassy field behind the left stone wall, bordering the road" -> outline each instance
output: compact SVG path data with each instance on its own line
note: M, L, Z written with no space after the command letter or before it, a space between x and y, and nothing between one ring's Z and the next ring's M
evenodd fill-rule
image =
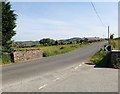
M43 56L54 56L57 54L64 54L73 50L77 50L81 47L90 45L92 43L86 44L67 44L67 45L56 45L56 46L37 46L37 47L29 47L29 48L15 48L15 50L29 50L29 49L41 49L43 51Z

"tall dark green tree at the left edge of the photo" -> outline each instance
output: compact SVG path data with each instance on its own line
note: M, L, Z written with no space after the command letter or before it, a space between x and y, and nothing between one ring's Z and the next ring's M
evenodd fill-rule
M12 52L12 37L16 34L16 14L10 2L2 2L2 51Z

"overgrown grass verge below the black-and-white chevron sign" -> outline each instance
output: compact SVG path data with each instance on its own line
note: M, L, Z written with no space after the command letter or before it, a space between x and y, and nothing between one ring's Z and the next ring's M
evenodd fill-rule
M111 60L111 53L105 52L103 49L100 49L94 56L92 56L90 61L97 67L112 67L120 69L120 60Z

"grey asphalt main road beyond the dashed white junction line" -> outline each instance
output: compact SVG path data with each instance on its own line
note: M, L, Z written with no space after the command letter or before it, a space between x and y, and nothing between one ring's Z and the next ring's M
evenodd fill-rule
M6 89L20 83L25 83L42 75L55 73L58 70L64 70L69 66L82 63L94 55L104 44L105 42L100 42L67 54L31 60L24 63L5 65L2 67L3 91L4 88Z

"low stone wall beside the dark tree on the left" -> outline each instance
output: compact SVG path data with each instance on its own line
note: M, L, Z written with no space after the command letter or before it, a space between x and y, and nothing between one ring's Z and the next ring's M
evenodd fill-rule
M14 62L26 61L26 60L42 58L42 57L43 57L43 51L40 49L15 51L13 53Z

